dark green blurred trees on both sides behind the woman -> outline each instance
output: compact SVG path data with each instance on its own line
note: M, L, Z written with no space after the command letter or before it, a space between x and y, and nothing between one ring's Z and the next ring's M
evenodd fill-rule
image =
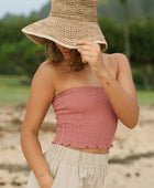
M21 29L36 17L0 20L0 74L26 74L32 79L37 66L45 60L45 46L30 41ZM108 42L107 53L124 53L124 25L111 18L98 17L98 23ZM154 86L154 18L134 19L130 22L131 65L138 71L133 79L138 87Z

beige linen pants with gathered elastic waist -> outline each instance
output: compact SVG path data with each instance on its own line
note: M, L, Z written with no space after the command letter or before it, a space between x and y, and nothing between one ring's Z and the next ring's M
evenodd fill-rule
M44 158L55 178L51 188L103 188L109 153L85 153L52 143ZM26 188L40 188L32 170Z

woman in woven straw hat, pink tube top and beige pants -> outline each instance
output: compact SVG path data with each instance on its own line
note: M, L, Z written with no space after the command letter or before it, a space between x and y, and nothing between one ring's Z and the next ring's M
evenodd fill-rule
M97 1L91 0L88 6L82 0L52 1L47 19L22 30L35 43L46 44L47 55L32 80L21 130L22 149L32 168L26 188L102 188L118 119L128 128L138 124L139 104L128 58L105 53L107 41L99 28L95 29L98 34L85 34L86 40L69 35L89 31L94 15L97 21L96 8ZM66 31L63 24L67 22L68 27L73 15L78 20L74 27L85 19L87 25L80 24L85 28L79 29L82 32L74 33L72 27ZM56 38L57 32L52 31L59 21L56 27L63 27ZM53 30L45 22L52 23ZM64 40L65 32L70 41ZM57 129L51 148L43 154L38 130L51 104Z

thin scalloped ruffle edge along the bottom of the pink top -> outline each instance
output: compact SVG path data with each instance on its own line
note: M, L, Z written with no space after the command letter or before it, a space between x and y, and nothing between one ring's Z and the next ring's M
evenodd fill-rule
M52 143L56 143L56 144L61 144L64 146L72 146L75 148L79 148L79 149L85 149L85 148L99 148L99 149L106 149L106 148L110 148L113 147L113 144L76 144L76 143L68 143L68 142L59 142L59 140L53 140Z

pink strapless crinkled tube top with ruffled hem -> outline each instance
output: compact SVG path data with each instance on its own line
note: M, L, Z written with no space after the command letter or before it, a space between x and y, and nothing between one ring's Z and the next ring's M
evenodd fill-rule
M53 98L56 135L52 143L75 148L109 148L118 117L102 86L68 88Z

